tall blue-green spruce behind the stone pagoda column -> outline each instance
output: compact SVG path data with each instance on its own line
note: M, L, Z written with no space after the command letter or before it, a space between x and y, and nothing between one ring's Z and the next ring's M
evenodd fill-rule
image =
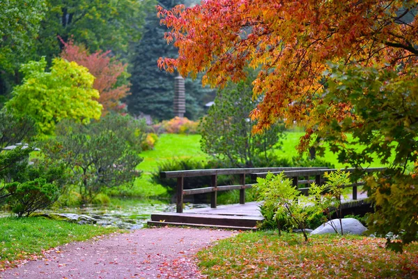
M165 8L173 8L183 1L160 0ZM127 97L128 110L131 114L150 114L154 119L173 118L174 77L157 67L160 56L176 56L177 51L164 40L167 27L160 24L155 13L146 17L142 39L134 45L130 59L131 91ZM189 119L197 119L203 112L203 105L210 89L203 89L200 81L186 79L186 114ZM212 98L213 98L212 93Z

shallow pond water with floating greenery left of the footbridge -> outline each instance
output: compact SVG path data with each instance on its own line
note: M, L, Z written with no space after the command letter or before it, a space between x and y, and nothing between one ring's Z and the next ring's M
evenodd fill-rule
M185 209L208 207L209 204L186 204ZM97 220L97 225L119 227L122 229L141 229L152 213L175 212L176 204L152 204L138 202L118 202L116 205L89 205L85 207L63 207L42 210L40 213L75 213ZM10 212L1 212L0 217L10 216Z

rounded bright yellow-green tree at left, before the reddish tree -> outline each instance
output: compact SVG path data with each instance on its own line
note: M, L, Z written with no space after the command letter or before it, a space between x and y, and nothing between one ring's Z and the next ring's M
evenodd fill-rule
M87 68L75 62L54 59L51 72L45 72L45 57L22 66L24 82L13 90L13 98L6 103L15 116L31 116L41 135L52 135L55 124L63 119L89 123L99 119L102 105L93 98L94 77Z

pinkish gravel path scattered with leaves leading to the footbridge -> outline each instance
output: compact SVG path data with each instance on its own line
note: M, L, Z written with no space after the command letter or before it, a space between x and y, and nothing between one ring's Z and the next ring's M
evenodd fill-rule
M112 234L48 250L0 278L206 278L194 255L234 232L162 227Z

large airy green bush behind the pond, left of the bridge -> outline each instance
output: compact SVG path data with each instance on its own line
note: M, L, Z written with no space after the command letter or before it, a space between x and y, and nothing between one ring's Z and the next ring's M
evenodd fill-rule
M104 188L132 185L141 175L143 123L128 116L107 114L83 126L61 123L56 138L42 145L45 155L62 160L70 169L70 183L77 186L82 203L90 203Z

